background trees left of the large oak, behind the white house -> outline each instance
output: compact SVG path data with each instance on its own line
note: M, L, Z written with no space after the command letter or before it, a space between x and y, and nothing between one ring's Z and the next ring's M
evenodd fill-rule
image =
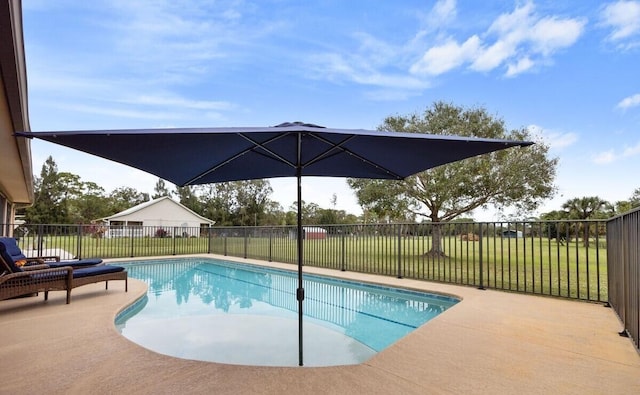
M34 182L35 201L20 214L31 224L88 224L140 203L163 196L179 201L195 213L216 221L219 226L293 225L296 202L288 210L271 199L268 180L234 181L219 184L178 187L170 190L158 179L152 195L135 188L120 187L107 193L95 182L58 171L50 156ZM302 202L305 223L349 224L358 217L344 210L324 209Z

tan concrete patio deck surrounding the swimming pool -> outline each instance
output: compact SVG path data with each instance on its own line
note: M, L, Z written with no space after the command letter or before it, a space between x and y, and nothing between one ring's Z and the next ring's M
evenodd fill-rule
M137 280L129 281L128 293L121 281L107 291L104 283L74 289L70 305L64 292L50 293L47 302L42 295L1 301L0 393L640 393L640 355L618 336L619 320L602 305L309 267L305 272L463 300L366 363L323 368L234 366L144 349L113 324L146 292Z

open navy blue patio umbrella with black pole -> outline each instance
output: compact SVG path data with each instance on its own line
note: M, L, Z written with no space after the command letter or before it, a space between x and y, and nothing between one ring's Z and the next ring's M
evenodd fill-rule
M401 180L446 163L527 141L332 129L300 122L273 127L19 132L149 172L178 186L273 177L298 181L298 345L303 365L302 176Z

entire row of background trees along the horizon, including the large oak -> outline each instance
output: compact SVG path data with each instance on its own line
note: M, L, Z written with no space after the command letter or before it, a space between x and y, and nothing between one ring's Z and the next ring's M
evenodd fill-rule
M526 128L509 130L486 109L435 102L422 113L390 116L381 131L458 135L509 140L534 140ZM402 158L398 158L402 160ZM402 181L348 179L363 214L356 216L302 202L305 224L380 222L448 222L470 216L473 210L515 208L522 218L553 197L558 158L549 156L544 141L439 166ZM108 217L150 199L171 196L220 226L293 225L296 202L283 208L271 196L268 180L234 181L178 187L169 190L159 179L154 193L120 187L107 192L95 182L60 172L47 158L35 179L35 202L20 213L28 223L78 224ZM561 210L540 219L609 218L640 206L640 188L625 201L610 203L597 196L574 198ZM521 219L522 219L521 218Z

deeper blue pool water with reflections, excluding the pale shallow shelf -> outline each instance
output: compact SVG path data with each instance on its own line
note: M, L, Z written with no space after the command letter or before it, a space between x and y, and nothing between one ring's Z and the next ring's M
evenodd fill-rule
M131 277L149 284L150 301L138 318L211 314L295 318L295 273L210 262L179 260L129 266ZM307 319L375 351L388 347L457 302L310 275L305 276L304 287Z

